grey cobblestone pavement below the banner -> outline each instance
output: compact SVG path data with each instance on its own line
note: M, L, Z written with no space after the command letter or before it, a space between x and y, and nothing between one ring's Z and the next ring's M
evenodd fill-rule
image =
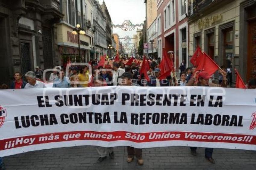
M189 147L160 147L143 149L144 165L136 159L126 162L126 147L114 148L115 159L109 157L97 163L94 146L67 147L28 152L4 157L6 170L51 169L256 169L256 152L249 150L214 149L216 164L204 158L204 148L198 148L197 156L190 154Z

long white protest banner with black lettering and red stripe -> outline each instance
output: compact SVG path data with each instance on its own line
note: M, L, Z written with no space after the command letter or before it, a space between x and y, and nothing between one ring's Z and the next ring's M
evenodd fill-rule
M256 150L255 90L0 90L0 155L79 145Z

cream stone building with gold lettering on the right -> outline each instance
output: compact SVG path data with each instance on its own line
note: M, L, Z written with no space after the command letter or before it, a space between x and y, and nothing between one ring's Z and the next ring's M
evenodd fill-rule
M233 70L230 77L233 80L236 77L234 68L244 80L255 76L256 62L252 61L256 61L256 56L250 44L253 44L251 37L256 37L256 32L252 35L253 24L256 28L256 2L215 0L199 3L191 0L189 4L189 56L200 46L219 66Z

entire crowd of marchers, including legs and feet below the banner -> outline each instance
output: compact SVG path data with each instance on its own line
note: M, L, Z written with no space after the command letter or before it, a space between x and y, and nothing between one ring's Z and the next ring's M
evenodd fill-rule
M150 69L147 71L149 80L145 80L145 75L140 73L141 64L132 62L126 65L123 61L113 62L111 65L106 61L105 66L98 66L97 62L91 64L92 70L85 65L76 65L68 67L68 71L64 72L62 67L55 67L49 77L43 77L43 71L36 67L35 71L28 71L23 80L20 72L14 73L14 81L11 89L31 89L46 88L42 80L48 80L52 83L53 88L73 88L73 87L103 87L103 86L142 86L142 87L161 87L161 86L204 86L204 87L227 87L227 70L222 66L218 70L218 81L214 80L212 75L206 71L196 71L196 67L186 68L185 62L180 64L179 79L176 73L170 72L170 75L164 79L160 77L160 62L152 60ZM46 74L45 74L46 75ZM217 83L214 83L217 82ZM247 83L247 88L256 88L256 78L252 78ZM2 84L0 89L8 89L6 84ZM191 154L196 155L196 147L190 147ZM106 159L107 154L114 159L113 148L97 147L99 154L98 163ZM137 158L139 165L143 165L142 149L127 147L127 162L132 162L134 157ZM212 157L213 148L205 148L205 158L215 163ZM0 158L0 167L2 158Z

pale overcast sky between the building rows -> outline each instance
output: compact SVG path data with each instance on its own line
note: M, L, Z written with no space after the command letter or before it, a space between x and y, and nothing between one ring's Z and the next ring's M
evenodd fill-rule
M103 0L98 0L102 4ZM133 24L144 23L146 9L144 0L104 0L108 12L114 25L121 25L124 20L130 20ZM129 35L133 37L136 34L136 27L133 31L123 31L120 28L113 28L113 33L117 33L120 38ZM140 27L139 29L142 29ZM131 41L131 43L133 43Z

